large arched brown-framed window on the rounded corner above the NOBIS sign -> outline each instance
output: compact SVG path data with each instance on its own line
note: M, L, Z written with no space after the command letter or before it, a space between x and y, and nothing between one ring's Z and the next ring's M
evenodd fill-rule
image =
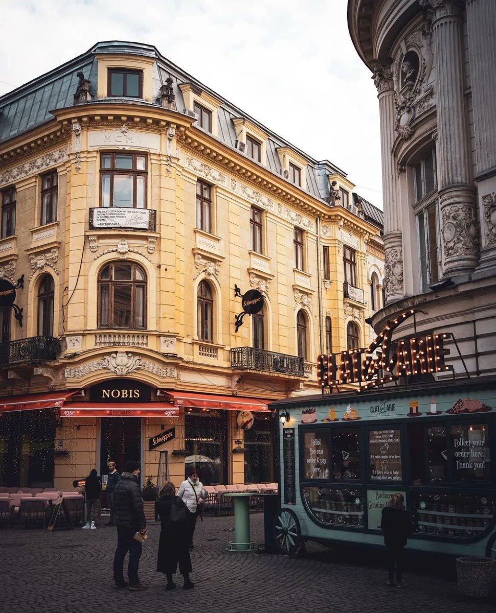
M98 275L98 327L146 327L146 275L138 264L110 262Z

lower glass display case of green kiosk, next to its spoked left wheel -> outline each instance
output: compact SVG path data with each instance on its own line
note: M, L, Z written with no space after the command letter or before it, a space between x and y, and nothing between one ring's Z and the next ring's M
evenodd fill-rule
M309 514L320 524L363 528L365 492L355 489L303 487Z

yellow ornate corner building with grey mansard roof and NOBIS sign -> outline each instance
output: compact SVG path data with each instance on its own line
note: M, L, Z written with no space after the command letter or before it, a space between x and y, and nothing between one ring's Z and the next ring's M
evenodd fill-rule
M0 108L0 484L273 481L267 403L373 335L381 211L149 45Z

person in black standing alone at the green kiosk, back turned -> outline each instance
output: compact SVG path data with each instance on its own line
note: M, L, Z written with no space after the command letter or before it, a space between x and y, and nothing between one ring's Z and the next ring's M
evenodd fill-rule
M381 530L384 532L384 544L389 554L387 585L406 587L403 581L403 550L406 539L413 532L413 525L405 509L405 498L402 494L393 494L387 506L382 509Z

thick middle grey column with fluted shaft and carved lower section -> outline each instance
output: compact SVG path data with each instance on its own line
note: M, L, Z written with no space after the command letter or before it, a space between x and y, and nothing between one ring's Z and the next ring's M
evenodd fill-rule
M463 100L459 0L420 0L432 17L439 137L438 184L444 275L471 272L478 264L475 189Z

